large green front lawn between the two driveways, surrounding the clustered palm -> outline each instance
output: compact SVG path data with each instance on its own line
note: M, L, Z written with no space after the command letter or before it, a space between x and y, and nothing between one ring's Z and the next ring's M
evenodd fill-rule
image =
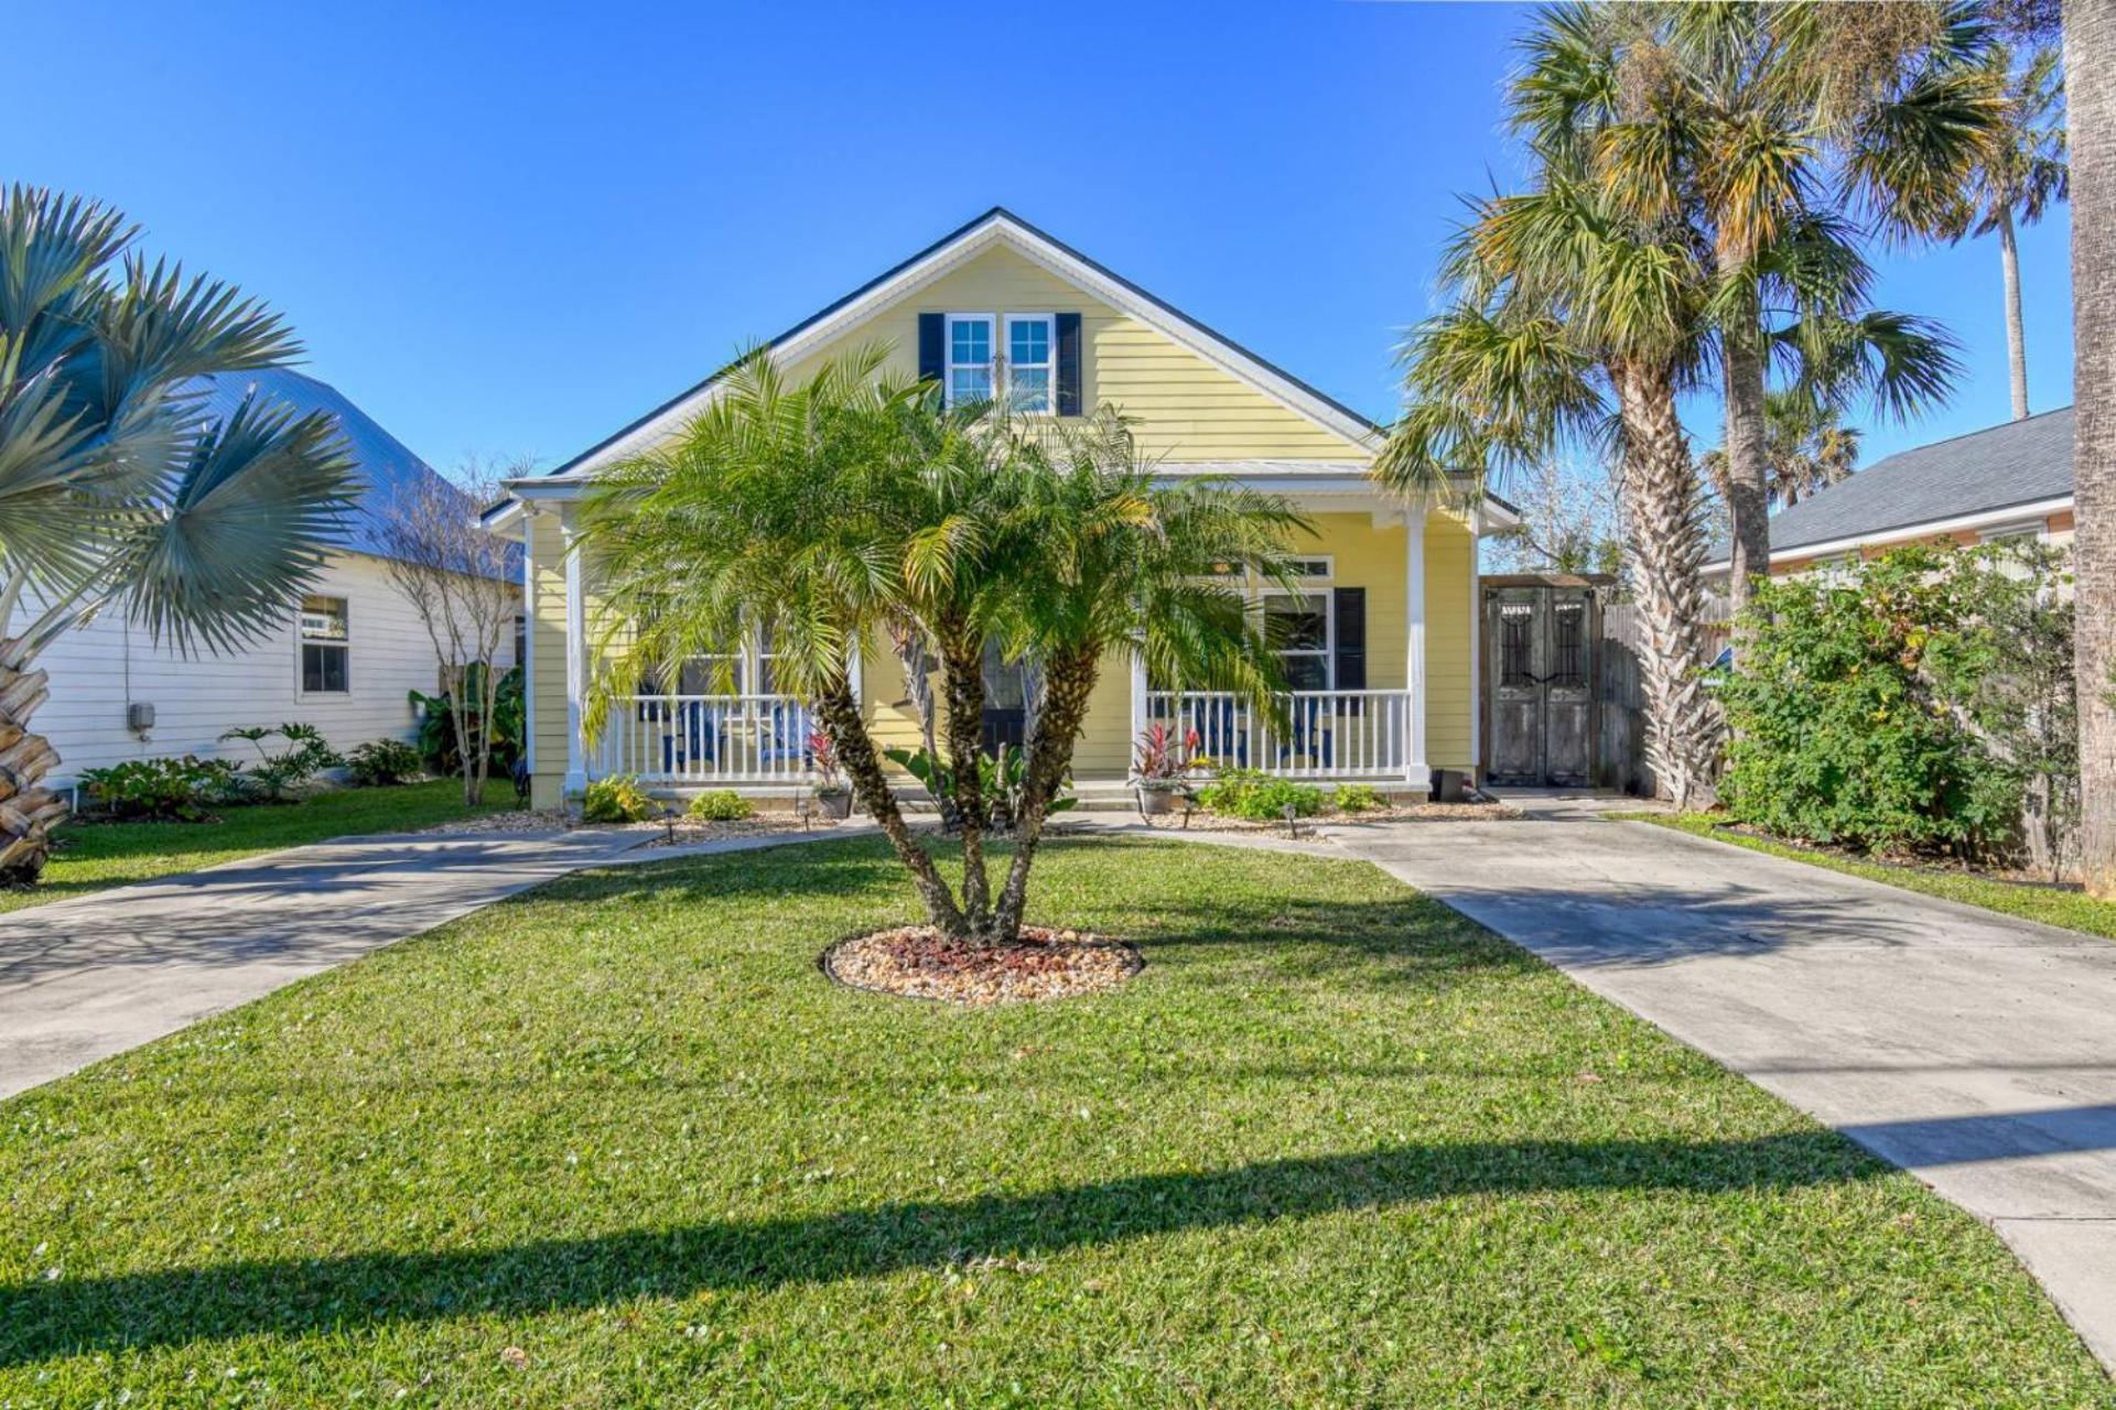
M1981 1224L1371 867L1039 877L1141 977L840 989L908 892L813 843L0 1103L0 1406L2110 1404Z

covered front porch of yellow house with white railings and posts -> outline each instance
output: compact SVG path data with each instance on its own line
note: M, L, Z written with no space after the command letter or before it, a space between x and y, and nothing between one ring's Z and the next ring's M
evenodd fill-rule
M1196 734L1198 774L1255 769L1308 782L1365 782L1390 791L1430 786L1435 767L1471 769L1475 742L1475 533L1466 516L1420 514L1371 495L1310 497L1314 524L1297 543L1297 586L1248 583L1272 619L1293 687L1270 708L1232 691L1187 691L1149 681L1132 653L1105 660L1073 776L1083 789L1121 786L1134 742L1153 725ZM573 685L586 662L569 662ZM768 670L743 672L768 685ZM916 748L918 712L884 643L868 643L855 672L870 731ZM988 746L1022 738L1014 672L986 672ZM569 712L567 791L633 774L650 789L736 789L798 795L815 786L815 719L806 702L749 693L639 693L614 700L597 736ZM1181 738L1179 736L1179 738Z

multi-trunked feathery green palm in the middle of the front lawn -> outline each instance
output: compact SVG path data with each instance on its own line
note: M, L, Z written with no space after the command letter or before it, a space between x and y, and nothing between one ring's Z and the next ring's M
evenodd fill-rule
M1109 419L1064 433L995 406L942 408L937 389L882 376L884 359L859 349L791 385L753 353L677 442L599 478L578 535L607 662L586 723L601 729L647 676L770 632L783 689L817 710L927 920L1011 941L1105 655L1132 645L1187 681L1261 695L1276 657L1215 573L1291 581L1297 518L1265 497L1157 486ZM904 818L861 715L853 660L884 636L927 643L940 668L961 888ZM1045 676L997 907L980 765L990 638Z

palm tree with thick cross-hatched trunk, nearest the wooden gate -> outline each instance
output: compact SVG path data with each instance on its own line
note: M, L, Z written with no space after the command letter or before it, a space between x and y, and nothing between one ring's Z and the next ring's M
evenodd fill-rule
M1570 118L1540 135L1536 190L1496 197L1449 249L1454 304L1405 345L1405 412L1378 478L1420 499L1475 493L1566 442L1623 467L1631 592L1646 626L1646 757L1678 808L1710 789L1718 723L1703 693L1705 554L1697 469L1676 410L1701 361L1708 281L1680 226L1642 226L1585 180L1574 123L1591 99L1557 82L1589 72L1587 11L1547 15L1530 40L1534 95Z

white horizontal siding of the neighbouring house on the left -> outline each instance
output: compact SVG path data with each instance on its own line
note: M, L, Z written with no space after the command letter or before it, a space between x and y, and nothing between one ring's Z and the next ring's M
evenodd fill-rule
M220 734L237 725L303 721L320 725L341 750L385 736L411 738L415 717L406 695L432 691L438 670L425 628L389 581L387 564L332 554L313 592L347 600L351 691L343 695L300 693L292 611L279 630L237 653L193 660L157 649L118 611L61 636L38 657L51 674L51 700L38 708L36 729L59 750L49 782L66 786L80 769L154 755L254 759L243 740L220 744ZM34 605L28 611L34 615ZM512 657L510 634L501 660L512 664ZM127 702L154 706L146 740L125 727Z

